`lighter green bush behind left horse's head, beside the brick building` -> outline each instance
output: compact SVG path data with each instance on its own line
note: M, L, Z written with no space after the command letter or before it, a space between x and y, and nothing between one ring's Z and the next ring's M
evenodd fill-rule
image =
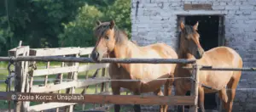
M108 4L108 2L106 3ZM130 3L129 0L116 0L112 5L103 8L85 4L84 7L79 9L76 20L64 24L64 33L59 36L61 45L63 47L94 46L95 37L92 30L96 26L96 20L115 20L119 29L125 30L128 36L131 36Z

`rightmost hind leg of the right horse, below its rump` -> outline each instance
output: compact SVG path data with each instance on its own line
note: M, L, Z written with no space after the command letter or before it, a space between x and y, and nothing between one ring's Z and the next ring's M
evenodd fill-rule
M228 87L228 103L226 105L226 112L232 111L233 101L236 95L236 87L240 78L231 79L227 85Z

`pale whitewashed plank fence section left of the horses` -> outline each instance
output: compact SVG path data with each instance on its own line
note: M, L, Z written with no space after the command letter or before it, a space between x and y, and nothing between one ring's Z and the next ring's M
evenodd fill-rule
M14 48L9 50L9 56L19 57L19 56L63 56L63 57L76 57L80 56L88 57L92 51L92 48L29 48L29 46ZM108 78L108 64L79 64L77 62L61 62L60 67L49 68L50 62L48 61L45 69L35 68L37 62L30 62L31 67L29 67L28 61L21 61L15 65L15 92L57 92L61 93L63 90L66 93L75 93L75 88L84 88L82 94L86 93L86 88L91 85L95 85L96 94L109 94L108 82L106 81L96 81L96 79L107 79ZM30 69L30 70L29 70ZM94 78L95 81L77 81L78 74L84 73L84 79L90 80L88 77L88 72L91 70L96 70L97 77ZM100 72L102 71L102 72ZM67 75L66 75L67 74ZM66 75L66 76L65 76ZM43 84L34 84L34 79L44 76ZM48 81L49 76L57 76L55 82ZM100 88L100 92L98 89ZM60 107L66 107L69 112L73 111L73 106L76 103L44 103L36 104L30 106L30 102L17 102L15 110L21 111L42 111L45 109L56 109L59 111ZM83 104L83 109L84 109ZM94 106L96 108L96 106Z

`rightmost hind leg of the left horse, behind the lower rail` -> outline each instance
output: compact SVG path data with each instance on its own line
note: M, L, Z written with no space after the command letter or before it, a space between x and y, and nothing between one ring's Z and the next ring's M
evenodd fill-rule
M173 78L173 76L171 77ZM172 94L172 84L173 84L173 79L167 80L165 84L165 96L170 96ZM163 105L163 112L167 112L168 110L168 105Z

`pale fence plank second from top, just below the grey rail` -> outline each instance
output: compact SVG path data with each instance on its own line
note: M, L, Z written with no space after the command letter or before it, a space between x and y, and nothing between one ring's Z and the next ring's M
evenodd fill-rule
M44 70L34 70L33 76L46 76L46 75L55 75L61 73L69 73L74 71L84 72L86 70L96 70L102 68L108 68L109 64L84 64L78 67L76 66L67 66L61 68L51 68L51 69L44 69Z

